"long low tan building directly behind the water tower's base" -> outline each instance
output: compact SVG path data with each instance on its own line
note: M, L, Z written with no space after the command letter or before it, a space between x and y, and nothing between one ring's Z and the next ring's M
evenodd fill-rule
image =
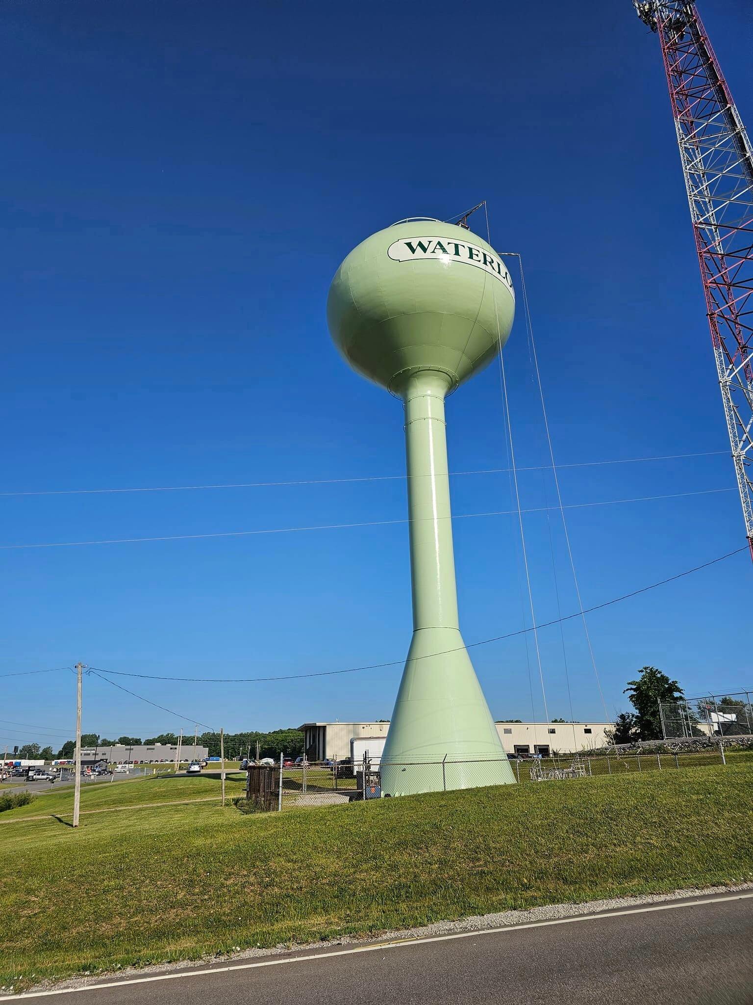
M574 754L606 743L612 723L497 723L507 754ZM309 761L343 761L357 737L387 737L390 723L304 723L303 752Z

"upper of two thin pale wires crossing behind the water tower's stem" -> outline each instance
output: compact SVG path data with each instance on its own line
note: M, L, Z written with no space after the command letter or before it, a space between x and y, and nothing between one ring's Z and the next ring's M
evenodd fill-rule
M700 453L671 453L653 457L616 457L608 460L582 460L571 464L557 464L558 469L563 467L600 467L605 464L640 464L653 460L682 460L689 457L714 457L720 454L729 454L729 450L704 450ZM537 464L531 467L518 467L518 471L543 471L550 470L550 464ZM458 477L466 474L504 474L509 471L507 467L484 467L476 471L450 471L451 477ZM429 475L417 475L418 477L429 477ZM351 481L405 481L410 477L408 474L370 474L350 478L300 478L293 481L236 481L218 484L200 485L148 485L137 488L49 488L32 489L19 491L0 492L4 495L106 495L124 492L186 492L199 491L212 488L277 488L287 485L334 485L345 484Z

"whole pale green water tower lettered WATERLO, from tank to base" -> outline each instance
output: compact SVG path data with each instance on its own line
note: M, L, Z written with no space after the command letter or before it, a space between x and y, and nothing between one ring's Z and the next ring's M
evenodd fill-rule
M515 780L460 634L445 436L445 397L495 358L514 314L496 251L425 217L358 244L329 289L335 345L406 412L414 633L382 756L385 795Z

